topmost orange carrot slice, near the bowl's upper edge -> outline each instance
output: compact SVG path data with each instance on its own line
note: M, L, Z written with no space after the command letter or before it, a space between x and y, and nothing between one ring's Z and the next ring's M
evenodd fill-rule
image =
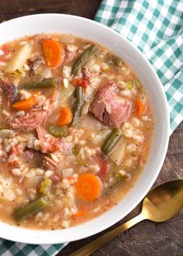
M43 40L43 54L49 67L58 67L62 61L63 47L56 40Z

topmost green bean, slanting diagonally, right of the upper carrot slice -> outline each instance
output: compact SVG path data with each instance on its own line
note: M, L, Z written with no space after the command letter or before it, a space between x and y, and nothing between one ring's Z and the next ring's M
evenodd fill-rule
M89 60L89 58L94 55L98 51L98 46L96 44L92 44L88 47L74 62L74 65L71 69L71 74L77 74L78 70L83 67L83 65Z

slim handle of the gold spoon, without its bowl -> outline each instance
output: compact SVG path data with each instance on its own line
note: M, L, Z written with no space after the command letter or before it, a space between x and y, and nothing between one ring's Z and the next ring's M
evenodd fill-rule
M122 234L124 231L128 230L130 227L133 227L133 225L139 223L142 220L145 220L145 218L143 216L143 213L140 213L132 220L127 221L119 227L116 227L115 229L109 231L107 234L104 234L101 237L98 237L97 239L91 241L89 244L86 244L84 247L81 247L77 251L74 251L70 254L70 256L88 256L91 253L97 251L103 245L109 243L119 234Z

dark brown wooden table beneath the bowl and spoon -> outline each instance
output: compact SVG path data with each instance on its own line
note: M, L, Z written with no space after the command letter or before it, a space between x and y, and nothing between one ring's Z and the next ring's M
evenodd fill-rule
M43 12L67 13L93 19L100 2L100 0L0 0L0 22L19 16ZM171 135L167 157L155 185L171 179L183 178L182 134L183 123ZM140 213L140 206L137 206L132 213L129 213L119 223L126 222L126 220L136 216L138 213ZM117 227L119 223L116 223L114 227ZM107 231L105 230L102 234L105 234ZM58 256L68 255L82 245L88 244L88 242L96 237L98 235L70 243L63 251L60 251ZM183 255L182 237L183 211L166 223L143 221L117 237L110 244L102 247L94 255Z

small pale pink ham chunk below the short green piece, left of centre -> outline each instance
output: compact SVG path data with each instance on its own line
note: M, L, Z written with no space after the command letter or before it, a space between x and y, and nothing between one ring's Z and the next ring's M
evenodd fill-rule
M42 126L36 128L37 136L40 140L40 147L43 153L52 153L57 150L64 154L69 154L73 148L71 142L67 142L64 138L57 138L47 133Z

